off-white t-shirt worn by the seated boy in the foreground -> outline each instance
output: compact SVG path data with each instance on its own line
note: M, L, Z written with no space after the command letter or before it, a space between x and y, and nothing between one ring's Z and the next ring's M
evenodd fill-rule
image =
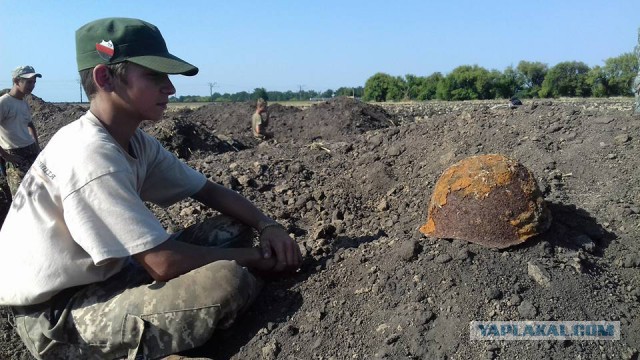
M0 230L0 305L30 305L105 280L169 237L145 206L206 177L138 129L132 157L87 112L60 129L23 179Z

